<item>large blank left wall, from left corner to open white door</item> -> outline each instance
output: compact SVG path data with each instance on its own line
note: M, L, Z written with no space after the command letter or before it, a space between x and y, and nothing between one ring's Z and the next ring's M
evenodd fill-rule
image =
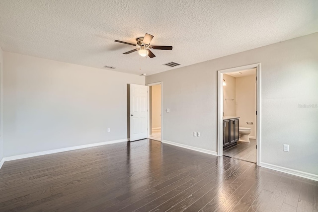
M8 52L3 60L5 157L127 139L127 84L144 76Z

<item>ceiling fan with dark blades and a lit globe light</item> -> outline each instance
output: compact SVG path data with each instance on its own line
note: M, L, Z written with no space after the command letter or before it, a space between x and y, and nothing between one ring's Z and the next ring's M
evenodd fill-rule
M127 43L127 42L119 41L119 40L115 40L115 42L128 44L128 45L132 45L132 46L137 46L136 49L133 49L131 51L123 53L124 55L130 54L132 52L136 52L139 50L138 53L140 56L146 57L148 55L150 58L154 58L154 57L156 57L156 55L154 55L154 53L152 51L150 51L151 49L172 50L172 46L152 46L152 45L150 45L150 42L153 39L153 37L154 37L153 35L146 33L145 37L141 37L141 38L136 39L137 44Z

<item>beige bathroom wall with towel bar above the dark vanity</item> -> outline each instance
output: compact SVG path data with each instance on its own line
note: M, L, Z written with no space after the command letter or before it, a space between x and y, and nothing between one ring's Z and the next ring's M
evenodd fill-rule
M236 116L235 108L235 89L236 89L236 80L235 77L228 74L223 74L223 79L227 83L226 86L223 86L223 112L224 116ZM228 99L228 100L226 100ZM232 100L234 99L234 100Z

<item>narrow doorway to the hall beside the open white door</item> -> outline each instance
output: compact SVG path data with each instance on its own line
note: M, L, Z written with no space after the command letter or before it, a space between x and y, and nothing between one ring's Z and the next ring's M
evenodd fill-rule
M148 109L148 139L161 141L162 138L162 83L152 83L149 86Z

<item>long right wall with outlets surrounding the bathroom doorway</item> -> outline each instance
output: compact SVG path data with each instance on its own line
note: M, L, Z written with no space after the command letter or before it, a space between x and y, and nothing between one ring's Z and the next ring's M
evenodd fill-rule
M318 175L318 108L298 107L318 104L317 41L315 33L147 76L164 84L163 140L217 151L217 71L261 63L261 162Z

